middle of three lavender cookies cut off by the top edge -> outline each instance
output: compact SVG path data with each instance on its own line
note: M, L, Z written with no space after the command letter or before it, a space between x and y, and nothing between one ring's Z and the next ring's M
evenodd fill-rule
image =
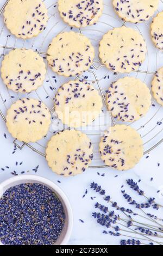
M103 0L59 0L58 9L66 23L81 28L98 21L103 12Z

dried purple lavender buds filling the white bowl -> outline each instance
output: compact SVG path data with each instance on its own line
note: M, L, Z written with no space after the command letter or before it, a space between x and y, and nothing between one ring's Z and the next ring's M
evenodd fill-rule
M60 200L41 184L21 184L5 191L0 216L4 245L52 245L65 223Z

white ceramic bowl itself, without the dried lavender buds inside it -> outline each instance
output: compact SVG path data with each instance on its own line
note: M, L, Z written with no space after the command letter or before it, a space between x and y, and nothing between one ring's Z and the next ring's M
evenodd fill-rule
M50 188L60 199L64 211L65 211L65 225L61 232L61 235L55 245L66 245L68 240L70 239L72 226L73 226L73 214L72 208L69 200L67 199L65 193L52 181L45 179L41 176L36 175L22 175L15 176L14 178L8 179L0 184L0 197L2 197L3 193L8 190L8 188L17 186L24 183L38 183L47 186ZM0 241L0 245L3 245Z

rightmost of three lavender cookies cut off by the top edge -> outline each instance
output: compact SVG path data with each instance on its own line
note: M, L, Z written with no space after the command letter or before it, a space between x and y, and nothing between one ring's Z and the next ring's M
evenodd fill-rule
M137 23L149 20L158 8L159 0L113 0L112 3L120 18Z

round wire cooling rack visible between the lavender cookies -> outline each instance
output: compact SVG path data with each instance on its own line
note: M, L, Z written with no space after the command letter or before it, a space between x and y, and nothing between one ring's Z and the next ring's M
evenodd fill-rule
M61 32L71 31L73 29L73 31L75 32L82 33L86 35L88 38L90 38L92 45L95 47L96 50L96 57L89 71L84 72L84 74L80 76L80 78L91 82L94 85L94 87L98 89L99 93L103 97L104 103L103 112L101 114L101 117L99 118L99 120L103 120L101 121L102 125L101 123L99 125L99 120L96 120L93 123L93 129L92 127L88 126L87 128L85 128L85 131L83 131L83 129L82 131L85 132L90 137L94 148L94 159L92 166L90 168L106 167L103 165L103 162L101 161L101 157L98 152L98 145L101 138L101 132L102 130L104 131L106 127L110 125L121 124L121 122L112 118L111 115L109 119L106 118L106 89L108 89L109 85L112 82L124 76L134 76L136 78L140 78L151 89L151 81L156 70L163 66L163 53L161 53L154 47L149 33L152 18L148 22L143 22L139 25L131 24L129 22L123 22L115 14L111 3L112 0L104 0L103 15L101 19L97 22L97 24L78 30L76 28L70 28L61 20L60 15L58 13L57 2L54 1L54 3L52 0L44 0L43 2L45 2L49 14L49 20L46 30L34 39L22 40L15 38L14 35L11 35L4 25L3 11L7 2L4 1L4 5L0 9L0 62L2 62L5 54L7 54L10 50L13 50L14 48L32 48L45 59L47 76L45 83L43 83L43 86L30 94L20 94L12 92L4 86L3 81L0 78L0 114L3 120L6 121L5 115L7 113L7 109L11 106L11 104L14 103L16 100L21 99L22 97L34 97L35 99L41 100L48 106L49 111L52 113L52 117L54 118L54 96L57 93L57 90L61 86L61 84L68 82L68 78L54 74L51 68L49 68L46 61L47 48L52 39L54 38L54 36ZM162 1L160 1L158 12L162 10L163 3ZM110 29L120 26L132 27L140 34L142 34L143 38L145 38L146 40L148 50L146 61L141 66L140 70L125 75L109 71L101 63L101 60L99 60L98 57L98 46L99 41L102 39L102 36ZM136 121L134 123L127 124L131 125L131 127L134 127L140 133L145 148L144 154L149 153L151 150L155 149L160 143L163 142L162 113L162 107L159 106L158 103L156 103L156 101L153 99L151 109L147 113L146 117L143 117L139 121ZM53 120L55 123L59 122L57 119ZM66 129L66 127L64 128ZM13 143L19 149L23 149L23 147L29 147L36 153L45 156L47 142L53 136L54 133L55 132L53 123L53 126L49 130L48 135L41 141L28 144L18 142L15 138Z

